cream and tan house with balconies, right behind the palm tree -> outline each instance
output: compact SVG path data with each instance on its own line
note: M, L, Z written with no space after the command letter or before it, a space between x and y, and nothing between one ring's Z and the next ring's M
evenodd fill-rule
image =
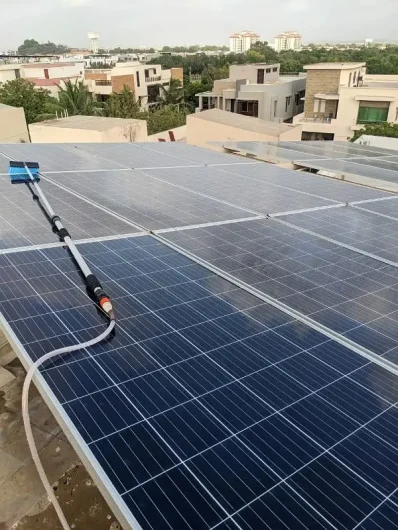
M157 105L160 86L167 86L170 79L183 83L183 69L162 70L160 64L136 62L117 63L114 68L86 70L85 82L90 92L105 101L112 92L121 92L124 86L130 88L142 108Z

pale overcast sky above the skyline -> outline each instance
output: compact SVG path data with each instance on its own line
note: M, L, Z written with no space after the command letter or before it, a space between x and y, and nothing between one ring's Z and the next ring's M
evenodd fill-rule
M34 38L100 46L228 44L251 29L272 41L296 30L304 42L397 39L398 0L0 0L0 49Z

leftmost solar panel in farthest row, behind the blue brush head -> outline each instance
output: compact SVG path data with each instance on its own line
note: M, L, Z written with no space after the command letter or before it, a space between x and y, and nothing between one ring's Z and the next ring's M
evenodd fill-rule
M6 155L6 156L4 156ZM69 144L1 144L0 166L1 172L6 173L4 168L6 157L14 160L39 162L40 170L46 171L79 171L94 169L118 169L123 166L117 161L95 157L87 151L78 150Z

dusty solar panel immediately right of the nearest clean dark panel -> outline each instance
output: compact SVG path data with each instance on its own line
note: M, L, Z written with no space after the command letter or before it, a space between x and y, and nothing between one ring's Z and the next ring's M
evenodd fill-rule
M350 226L348 219L344 223ZM275 220L166 232L162 238L374 353L398 346L394 266Z

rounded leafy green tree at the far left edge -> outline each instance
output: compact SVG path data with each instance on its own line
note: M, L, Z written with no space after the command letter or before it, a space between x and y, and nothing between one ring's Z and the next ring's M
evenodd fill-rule
M48 90L36 89L34 83L26 79L14 79L0 86L0 103L11 107L23 107L27 123L38 120L52 102Z

